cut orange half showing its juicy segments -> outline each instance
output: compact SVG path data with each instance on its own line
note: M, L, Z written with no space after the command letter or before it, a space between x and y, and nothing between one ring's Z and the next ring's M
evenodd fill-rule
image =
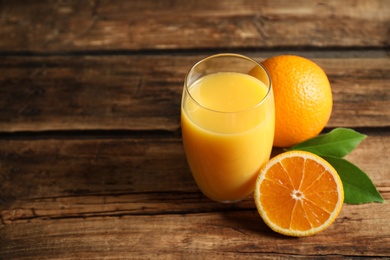
M272 158L263 168L254 198L260 216L272 230L309 236L337 218L344 190L327 161L309 152L290 151Z

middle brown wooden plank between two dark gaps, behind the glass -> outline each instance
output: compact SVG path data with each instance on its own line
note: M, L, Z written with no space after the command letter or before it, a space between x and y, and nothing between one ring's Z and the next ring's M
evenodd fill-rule
M203 57L4 57L0 132L179 131L184 77ZM313 61L325 70L332 86L334 107L328 127L390 126L390 59Z

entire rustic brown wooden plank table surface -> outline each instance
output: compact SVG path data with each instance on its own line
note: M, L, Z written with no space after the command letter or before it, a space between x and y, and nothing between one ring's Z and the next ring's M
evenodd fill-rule
M0 1L0 259L390 257L390 203L290 238L198 190L180 134L193 63L297 54L331 81L324 131L390 201L390 1ZM275 153L280 150L275 149Z

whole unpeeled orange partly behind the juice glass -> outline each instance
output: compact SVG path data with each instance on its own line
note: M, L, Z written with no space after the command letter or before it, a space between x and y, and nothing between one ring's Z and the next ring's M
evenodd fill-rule
M295 55L271 57L262 64L274 91L274 146L290 147L317 136L329 121L333 105L325 72Z

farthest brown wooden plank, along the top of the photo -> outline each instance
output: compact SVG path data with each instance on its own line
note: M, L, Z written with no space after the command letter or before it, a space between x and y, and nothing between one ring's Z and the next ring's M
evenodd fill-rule
M3 0L0 51L386 47L387 0Z

